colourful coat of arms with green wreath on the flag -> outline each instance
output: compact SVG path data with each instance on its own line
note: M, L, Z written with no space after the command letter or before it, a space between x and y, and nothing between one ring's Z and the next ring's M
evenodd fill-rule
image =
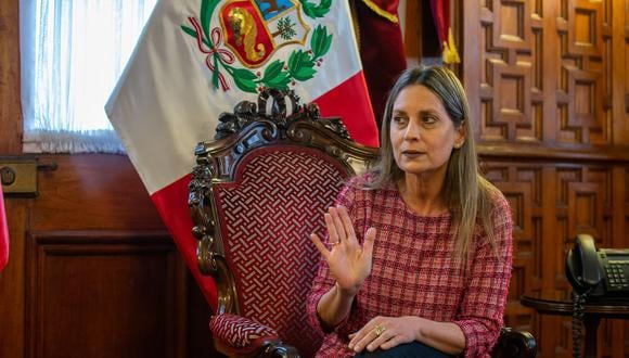
M333 36L324 25L313 30L303 20L324 17L332 0L318 5L306 0L203 0L198 17L189 16L183 31L196 39L211 72L215 88L255 93L265 88L287 89L317 74ZM273 54L295 44L287 61ZM240 65L240 66L239 66ZM226 76L226 74L228 76Z

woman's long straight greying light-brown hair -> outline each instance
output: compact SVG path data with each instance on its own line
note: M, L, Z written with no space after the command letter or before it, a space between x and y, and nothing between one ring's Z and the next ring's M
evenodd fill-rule
M453 149L444 182L444 200L452 215L452 228L455 235L457 258L467 261L472 247L472 236L477 219L489 238L492 247L495 235L491 219L491 193L497 191L479 171L474 135L470 123L470 106L463 86L457 75L441 66L420 66L405 71L394 85L388 95L381 128L380 161L370 170L373 179L368 188L384 188L403 180L405 172L398 167L390 141L390 122L394 103L402 89L422 85L437 95L448 116L459 129L463 126L465 141L459 149Z

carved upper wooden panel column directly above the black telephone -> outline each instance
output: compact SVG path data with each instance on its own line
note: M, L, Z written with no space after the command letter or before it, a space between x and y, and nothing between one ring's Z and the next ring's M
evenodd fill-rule
M570 0L556 17L557 142L612 144L611 1Z

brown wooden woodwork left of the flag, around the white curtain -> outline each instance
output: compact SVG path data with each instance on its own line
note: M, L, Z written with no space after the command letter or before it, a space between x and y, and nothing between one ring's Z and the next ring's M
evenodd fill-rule
M23 154L18 3L0 7L0 156ZM38 157L56 164L38 195L5 195L0 357L213 356L207 305L128 158Z

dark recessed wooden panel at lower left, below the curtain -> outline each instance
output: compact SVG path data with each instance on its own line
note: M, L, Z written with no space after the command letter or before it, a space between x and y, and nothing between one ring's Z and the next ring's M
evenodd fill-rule
M28 356L175 356L185 272L167 232L48 231L29 241Z

